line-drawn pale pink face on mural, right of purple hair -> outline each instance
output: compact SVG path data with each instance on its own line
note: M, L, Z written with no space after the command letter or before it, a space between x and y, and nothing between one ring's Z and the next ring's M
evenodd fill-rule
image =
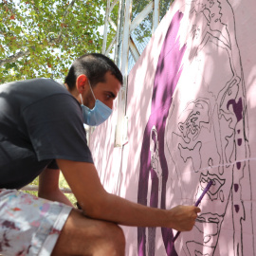
M250 190L250 155L234 19L227 0L186 1L179 31L180 44L187 47L165 127L164 154L172 159L167 161L170 206L193 204L210 180L213 185L195 227L176 240L178 255L219 255L219 235L229 218L233 255L244 255L243 225L252 218L243 204L242 184ZM253 236L252 229L247 231Z

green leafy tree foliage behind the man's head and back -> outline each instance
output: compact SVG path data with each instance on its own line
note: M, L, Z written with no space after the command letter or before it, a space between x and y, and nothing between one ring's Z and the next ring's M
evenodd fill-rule
M0 83L63 79L76 57L101 52L104 0L0 1Z

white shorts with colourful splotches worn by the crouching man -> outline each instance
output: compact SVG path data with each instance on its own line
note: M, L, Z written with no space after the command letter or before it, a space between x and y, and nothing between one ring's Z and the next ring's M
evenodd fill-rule
M71 210L26 192L0 189L0 255L50 255Z

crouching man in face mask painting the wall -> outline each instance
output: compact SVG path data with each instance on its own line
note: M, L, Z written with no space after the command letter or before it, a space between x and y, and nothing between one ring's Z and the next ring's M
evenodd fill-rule
M111 60L88 54L72 64L67 90L46 79L0 86L0 253L124 255L117 224L192 229L198 208L147 208L101 186L82 122L107 119L121 84ZM59 190L60 170L82 210ZM16 191L38 174L39 198Z

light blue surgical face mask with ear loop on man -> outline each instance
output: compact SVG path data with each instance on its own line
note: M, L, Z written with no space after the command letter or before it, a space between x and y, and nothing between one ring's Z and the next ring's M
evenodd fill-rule
M95 99L95 106L93 109L90 109L86 106L83 105L82 102L82 117L83 117L83 122L87 125L90 126L98 126L100 125L103 121L109 118L109 116L112 113L112 109L106 106L104 103L102 103L99 100L96 100L91 84L89 82L92 95ZM82 95L80 95L81 101L82 101Z

